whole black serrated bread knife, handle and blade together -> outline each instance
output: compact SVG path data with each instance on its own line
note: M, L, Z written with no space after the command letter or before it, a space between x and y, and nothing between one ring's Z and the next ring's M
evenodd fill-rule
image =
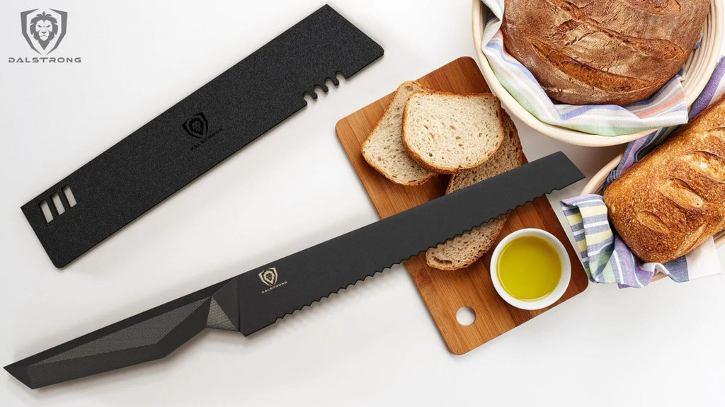
M5 366L31 388L162 358L206 327L250 335L365 277L581 180L561 152Z

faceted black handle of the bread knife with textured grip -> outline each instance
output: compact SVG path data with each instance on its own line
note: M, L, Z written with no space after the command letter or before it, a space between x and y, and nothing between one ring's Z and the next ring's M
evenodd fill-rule
M163 358L206 327L239 330L237 277L5 366L31 389Z

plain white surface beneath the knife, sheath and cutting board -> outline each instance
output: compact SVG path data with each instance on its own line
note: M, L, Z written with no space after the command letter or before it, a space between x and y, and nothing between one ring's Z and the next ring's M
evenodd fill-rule
M334 125L403 80L473 56L468 0L331 1L384 58L62 271L19 209L322 4L2 2L1 365L378 219ZM54 55L83 63L7 63L33 56L19 13L34 7L69 13ZM567 146L517 124L529 159L563 150L588 176L621 149ZM251 337L207 330L162 361L41 390L2 372L0 404L721 406L724 292L722 275L590 285L454 356L394 267Z

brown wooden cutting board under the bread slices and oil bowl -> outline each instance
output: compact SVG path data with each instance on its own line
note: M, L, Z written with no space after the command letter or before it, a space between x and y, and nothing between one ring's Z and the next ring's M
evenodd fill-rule
M479 67L468 57L456 59L418 81L436 91L489 92ZM365 162L360 154L360 146L382 116L391 98L392 93L341 119L336 126L338 138L381 218L442 196L448 181L447 176L440 176L433 177L420 186L397 185L378 174ZM490 253L486 253L471 267L455 272L428 267L425 253L405 261L410 277L413 277L415 286L452 353L460 355L471 351L587 288L587 275L547 198L537 198L512 212L500 238L525 227L537 227L551 232L564 243L571 259L569 287L563 297L547 309L524 311L505 303L491 282L488 269ZM498 242L499 239L492 247ZM470 325L457 322L457 311L465 306L471 307L476 314L476 319Z

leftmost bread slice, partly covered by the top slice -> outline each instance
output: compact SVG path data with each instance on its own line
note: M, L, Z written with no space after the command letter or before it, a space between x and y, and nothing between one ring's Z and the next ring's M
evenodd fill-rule
M408 156L401 138L403 109L408 96L413 92L427 90L412 80L398 86L383 117L363 142L365 161L397 184L421 185L435 175Z

